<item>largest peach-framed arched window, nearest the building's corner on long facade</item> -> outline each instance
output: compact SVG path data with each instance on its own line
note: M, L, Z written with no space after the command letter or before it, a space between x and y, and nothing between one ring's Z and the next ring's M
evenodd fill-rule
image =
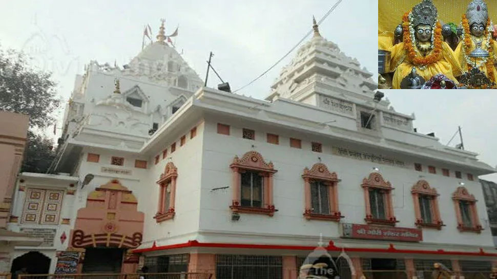
M233 212L258 213L273 216L273 163L266 163L256 152L250 151L241 159L235 156L233 170Z

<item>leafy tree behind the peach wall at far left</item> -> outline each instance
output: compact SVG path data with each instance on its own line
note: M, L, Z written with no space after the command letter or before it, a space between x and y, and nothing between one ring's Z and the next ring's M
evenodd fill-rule
M22 171L45 173L55 157L53 141L39 132L55 123L55 87L52 74L29 67L25 54L0 49L0 110L29 115Z

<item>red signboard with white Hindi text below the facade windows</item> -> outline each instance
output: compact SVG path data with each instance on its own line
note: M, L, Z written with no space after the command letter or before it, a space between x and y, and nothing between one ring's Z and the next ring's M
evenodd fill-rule
M420 242L423 240L423 231L413 228L344 223L342 224L342 238Z

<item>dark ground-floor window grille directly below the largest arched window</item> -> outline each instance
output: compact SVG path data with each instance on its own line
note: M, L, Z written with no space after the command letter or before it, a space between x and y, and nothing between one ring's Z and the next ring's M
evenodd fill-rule
M216 255L217 279L282 279L280 256Z

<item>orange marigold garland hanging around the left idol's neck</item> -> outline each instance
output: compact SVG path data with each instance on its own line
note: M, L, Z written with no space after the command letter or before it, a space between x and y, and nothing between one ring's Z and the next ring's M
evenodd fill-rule
M433 52L426 56L420 57L417 55L416 51L412 47L412 40L409 35L409 13L406 12L402 17L402 29L404 30L404 46L407 49L407 55L409 59L419 66L427 66L431 63L437 62L439 60L440 53L442 53L442 25L437 21L435 25L435 34L433 40Z

